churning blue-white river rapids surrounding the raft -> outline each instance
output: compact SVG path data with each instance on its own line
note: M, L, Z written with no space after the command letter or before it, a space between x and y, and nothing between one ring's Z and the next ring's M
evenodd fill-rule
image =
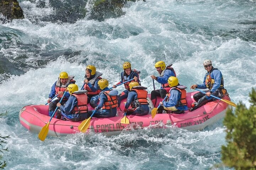
M0 113L7 111L0 118L0 133L11 137L3 157L6 169L229 169L215 168L222 163L225 145L222 120L202 131L149 128L110 137L47 137L42 142L20 124L18 113L23 106L46 103L62 71L74 75L81 87L88 64L113 85L129 61L141 70L142 85L151 91L150 75L157 75L154 63L160 60L172 63L187 87L202 83L202 62L212 60L222 71L231 100L249 107L249 92L256 88L256 1L129 2L123 15L106 15L103 21L91 19L92 1L19 2L25 19L0 24ZM66 8L61 10L65 5L80 10L67 14Z

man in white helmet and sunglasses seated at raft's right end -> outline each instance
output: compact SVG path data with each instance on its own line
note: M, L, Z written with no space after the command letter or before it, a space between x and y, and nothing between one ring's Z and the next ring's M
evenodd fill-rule
M224 94L226 94L226 90L224 89L224 79L223 75L217 68L212 66L212 61L204 60L203 62L204 69L207 70L206 75L204 76L204 80L202 84L194 84L190 87L190 89L208 89L206 95L198 92L193 95L194 100L197 102L190 111L194 111L195 109L203 106L204 104L215 100L215 98L210 95L222 98Z

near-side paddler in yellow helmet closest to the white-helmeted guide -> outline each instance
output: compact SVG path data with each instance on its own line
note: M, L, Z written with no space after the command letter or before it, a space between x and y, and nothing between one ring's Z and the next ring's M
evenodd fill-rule
M160 102L159 104L164 106L166 113L181 114L188 110L186 101L186 86L180 85L176 77L169 77L169 86L171 87L169 91L168 101ZM161 106L161 107L163 107Z

